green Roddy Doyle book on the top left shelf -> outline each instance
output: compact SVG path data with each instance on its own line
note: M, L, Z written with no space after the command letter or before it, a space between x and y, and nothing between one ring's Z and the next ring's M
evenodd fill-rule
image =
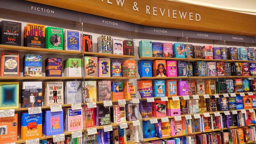
M63 50L64 33L62 28L45 28L45 48Z

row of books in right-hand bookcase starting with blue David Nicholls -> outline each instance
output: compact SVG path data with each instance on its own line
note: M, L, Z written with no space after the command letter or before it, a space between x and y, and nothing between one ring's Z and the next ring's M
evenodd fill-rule
M140 77L172 76L254 76L256 63L247 62L205 62L193 63L154 60L139 61Z

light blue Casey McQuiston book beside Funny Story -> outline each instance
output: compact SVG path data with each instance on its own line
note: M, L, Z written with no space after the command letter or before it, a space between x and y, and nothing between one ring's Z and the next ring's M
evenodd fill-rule
M165 97L165 81L155 80L153 83L153 97Z

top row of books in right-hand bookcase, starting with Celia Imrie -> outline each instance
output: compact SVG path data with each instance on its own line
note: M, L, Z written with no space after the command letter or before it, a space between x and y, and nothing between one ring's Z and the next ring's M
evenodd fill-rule
M255 60L254 48L193 46L191 44L160 43L149 40L139 42L139 55L140 57Z

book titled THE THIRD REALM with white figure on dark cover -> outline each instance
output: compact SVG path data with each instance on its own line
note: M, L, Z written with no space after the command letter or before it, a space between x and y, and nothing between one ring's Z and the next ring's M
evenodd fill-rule
M22 82L21 107L42 106L42 82Z

